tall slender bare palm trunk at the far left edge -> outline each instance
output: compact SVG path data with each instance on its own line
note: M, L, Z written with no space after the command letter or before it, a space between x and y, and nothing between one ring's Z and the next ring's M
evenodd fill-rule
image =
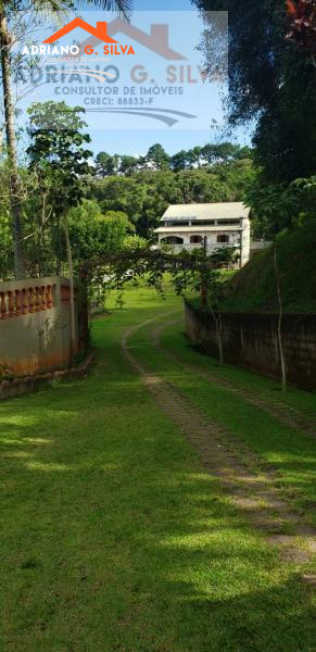
M14 246L14 273L16 278L23 278L25 277L25 261L21 220L21 186L17 168L15 116L11 88L10 34L8 32L7 18L3 14L3 9L0 9L0 46L5 135L10 161L10 203L12 217L12 236Z

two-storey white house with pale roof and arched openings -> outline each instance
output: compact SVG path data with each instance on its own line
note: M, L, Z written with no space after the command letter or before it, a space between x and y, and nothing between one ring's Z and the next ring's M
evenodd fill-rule
M159 247L173 244L176 251L203 247L206 236L208 252L231 246L242 266L250 259L249 212L241 202L172 204L154 233Z

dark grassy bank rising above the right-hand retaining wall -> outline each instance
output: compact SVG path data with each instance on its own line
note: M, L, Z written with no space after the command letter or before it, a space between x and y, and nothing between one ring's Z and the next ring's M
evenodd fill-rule
M277 251L285 311L316 313L316 221L280 234ZM277 308L270 247L227 281L223 310L276 312Z

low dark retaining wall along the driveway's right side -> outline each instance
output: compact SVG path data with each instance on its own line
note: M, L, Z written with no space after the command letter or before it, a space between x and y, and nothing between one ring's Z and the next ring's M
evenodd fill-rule
M224 313L224 361L280 378L278 316L268 313ZM186 303L186 333L194 344L218 358L218 331L213 315ZM286 314L282 338L289 383L316 389L316 315Z

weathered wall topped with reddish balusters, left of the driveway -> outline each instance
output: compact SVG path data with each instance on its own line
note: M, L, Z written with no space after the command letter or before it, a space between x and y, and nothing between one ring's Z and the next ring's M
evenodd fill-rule
M77 310L76 310L76 330ZM78 333L76 334L78 344ZM69 364L69 281L52 276L0 283L0 378Z

